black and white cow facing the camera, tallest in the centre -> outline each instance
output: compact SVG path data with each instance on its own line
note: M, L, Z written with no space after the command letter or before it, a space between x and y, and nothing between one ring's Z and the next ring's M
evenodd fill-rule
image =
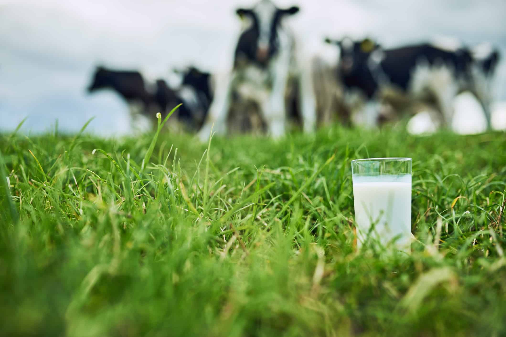
M285 92L291 77L298 79L301 117L305 131L315 127L315 98L310 74L296 52L294 35L283 20L299 12L298 7L280 9L270 0L261 0L252 9L237 9L250 25L236 45L231 74L217 80L215 98L199 132L205 141L212 125L217 133L227 132L227 118L234 98L257 103L272 137L285 133L287 118Z

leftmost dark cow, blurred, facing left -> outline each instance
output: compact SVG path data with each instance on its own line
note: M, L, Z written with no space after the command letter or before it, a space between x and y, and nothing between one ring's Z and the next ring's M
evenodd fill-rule
M155 84L151 85L138 71L117 71L99 66L95 70L88 92L106 88L116 91L129 104L134 118L138 112L148 118L154 118L157 112L164 116L175 106L184 103L163 79L157 79ZM192 126L192 114L186 106L181 106L176 116L187 126Z

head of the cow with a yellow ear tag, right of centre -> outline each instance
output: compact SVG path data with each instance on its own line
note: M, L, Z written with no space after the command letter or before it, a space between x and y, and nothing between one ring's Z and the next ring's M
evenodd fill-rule
M371 60L381 61L381 46L369 38L361 41L353 41L349 37L342 40L326 38L325 42L339 47L341 52L339 71L345 76L368 71Z

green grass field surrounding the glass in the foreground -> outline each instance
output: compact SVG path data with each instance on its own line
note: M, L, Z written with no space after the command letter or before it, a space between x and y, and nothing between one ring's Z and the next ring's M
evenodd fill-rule
M153 136L0 135L0 334L506 335L504 133ZM367 157L413 158L411 256L355 252Z

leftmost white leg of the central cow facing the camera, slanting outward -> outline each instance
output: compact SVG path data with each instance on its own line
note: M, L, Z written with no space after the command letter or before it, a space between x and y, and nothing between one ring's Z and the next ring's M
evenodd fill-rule
M198 132L198 138L201 141L209 139L211 129L217 134L227 132L227 115L230 110L234 80L235 74L231 78L227 76L227 78L217 79L215 98L209 107L207 118Z

